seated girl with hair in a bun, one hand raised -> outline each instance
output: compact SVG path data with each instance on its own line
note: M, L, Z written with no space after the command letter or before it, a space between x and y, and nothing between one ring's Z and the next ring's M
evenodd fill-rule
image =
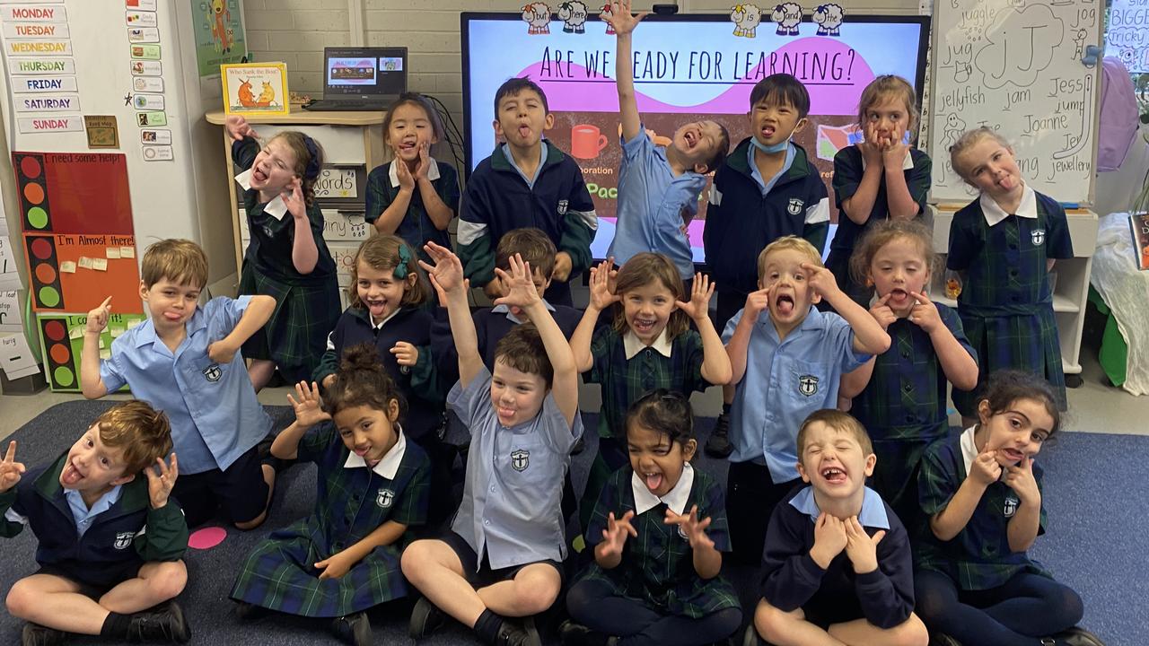
M344 354L322 408L314 382L287 399L295 422L271 454L316 463L315 512L252 551L231 598L242 618L269 609L330 617L340 639L368 646L367 610L407 595L400 551L426 521L431 466L407 440L403 395L368 344Z

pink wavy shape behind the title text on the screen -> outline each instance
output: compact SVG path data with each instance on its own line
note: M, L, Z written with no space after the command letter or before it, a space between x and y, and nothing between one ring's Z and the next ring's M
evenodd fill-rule
M792 74L801 80L810 93L810 114L815 115L854 115L857 111L858 97L862 90L873 80L874 74L869 63L849 45L836 38L810 36L795 38L786 45L765 52L761 64L758 54L762 52L745 52L753 64L747 66L742 59L737 70L724 63L726 78L731 71L742 77L731 78L730 87L722 94L691 106L674 106L654 99L642 92L640 82L635 87L639 110L643 113L701 113L701 114L745 114L749 107L750 90L764 76L774 72ZM564 68L566 69L566 68ZM612 113L618 111L618 93L612 80L587 72L578 63L569 66L569 74L555 78L542 74L542 62L535 62L516 76L529 76L542 86L547 93L547 102L552 110ZM597 82L587 83L587 79ZM647 85L647 87L657 87Z

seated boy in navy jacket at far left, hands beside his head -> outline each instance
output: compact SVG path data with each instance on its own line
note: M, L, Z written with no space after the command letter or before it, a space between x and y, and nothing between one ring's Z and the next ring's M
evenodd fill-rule
M170 451L168 416L144 401L109 408L67 453L26 474L8 444L0 536L28 525L39 540L39 570L7 598L8 612L29 622L25 646L60 644L67 633L187 641L183 610L170 601L187 582L187 523L169 498L179 475L175 453L164 461Z

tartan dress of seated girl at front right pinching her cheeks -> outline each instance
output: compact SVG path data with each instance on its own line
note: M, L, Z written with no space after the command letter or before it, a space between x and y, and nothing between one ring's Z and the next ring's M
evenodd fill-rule
M944 509L965 482L966 464L978 454L974 429L966 429L959 437L940 439L926 448L918 480L918 498L926 517ZM1038 491L1042 491L1041 475L1041 467L1034 463ZM913 544L915 569L941 572L959 590L966 591L998 587L1019 572L1052 578L1025 552L1013 552L1009 546L1009 522L1019 505L1017 494L1005 483L998 480L989 485L970 522L956 537L942 541L932 531L923 532ZM1042 505L1038 536L1044 532L1046 508Z

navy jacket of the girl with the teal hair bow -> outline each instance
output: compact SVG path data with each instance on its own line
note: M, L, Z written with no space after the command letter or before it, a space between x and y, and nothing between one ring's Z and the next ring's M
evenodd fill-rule
M383 328L376 330L371 325L371 315L362 307L348 307L336 329L327 337L327 351L323 353L319 367L315 369L315 380L323 383L327 375L339 369L339 360L344 351L358 344L371 344L379 353L387 376L403 393L407 401L407 413L401 422L407 436L417 443L424 443L434 437L442 426L442 410L446 391L435 387L434 371L431 364L431 322L433 317L425 309L404 307ZM399 341L407 341L419 351L415 366L407 369L399 366L391 348Z

